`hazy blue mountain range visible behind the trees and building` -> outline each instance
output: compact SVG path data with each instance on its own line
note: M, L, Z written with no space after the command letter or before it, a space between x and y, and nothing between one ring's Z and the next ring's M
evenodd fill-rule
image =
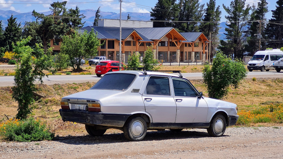
M51 11L41 12L41 13L43 13L44 15L50 15ZM92 10L92 9L80 10L80 13L86 16L82 20L83 22L85 21L84 27L92 26L94 18L95 18L96 10ZM12 14L15 18L17 18L18 23L21 22L22 27L24 27L24 23L26 21L35 21L35 17L32 16L32 12L18 13L12 10L7 10L7 11L0 10L0 20L2 20L2 25L4 28L7 26L7 23L8 23L7 19L9 19ZM100 11L100 14L102 15L102 18L105 18L105 19L119 19L120 18L119 13ZM131 16L131 20L150 21L150 13L122 12L122 19L127 20L128 14ZM225 35L223 34L225 32L225 27L226 27L225 22L220 23L220 27L222 27L219 31L220 39L225 39Z

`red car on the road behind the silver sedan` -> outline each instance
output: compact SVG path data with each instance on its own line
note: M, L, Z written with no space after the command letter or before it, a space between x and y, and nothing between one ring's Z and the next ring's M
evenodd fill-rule
M106 74L111 70L113 67L119 67L119 61L101 61L95 67L95 73L97 77L100 77L102 74ZM121 64L121 67L126 67L124 63ZM124 70L124 69L122 69ZM119 71L119 69L112 69L112 71Z

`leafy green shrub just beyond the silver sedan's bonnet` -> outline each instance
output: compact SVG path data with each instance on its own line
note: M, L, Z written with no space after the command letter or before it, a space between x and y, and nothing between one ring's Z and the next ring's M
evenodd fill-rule
M247 71L242 62L233 62L222 52L217 52L212 67L205 65L202 76L208 96L222 99L228 94L229 86L237 88L239 82L247 76Z

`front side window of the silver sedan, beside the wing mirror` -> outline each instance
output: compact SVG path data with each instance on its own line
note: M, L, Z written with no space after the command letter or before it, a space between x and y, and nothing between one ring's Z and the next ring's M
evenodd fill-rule
M198 93L183 79L172 78L175 96L197 97Z

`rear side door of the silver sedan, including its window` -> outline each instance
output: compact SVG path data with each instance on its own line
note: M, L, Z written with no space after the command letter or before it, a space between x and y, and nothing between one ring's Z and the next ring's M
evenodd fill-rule
M154 123L175 123L176 103L171 95L169 77L150 76L142 95L145 111Z

